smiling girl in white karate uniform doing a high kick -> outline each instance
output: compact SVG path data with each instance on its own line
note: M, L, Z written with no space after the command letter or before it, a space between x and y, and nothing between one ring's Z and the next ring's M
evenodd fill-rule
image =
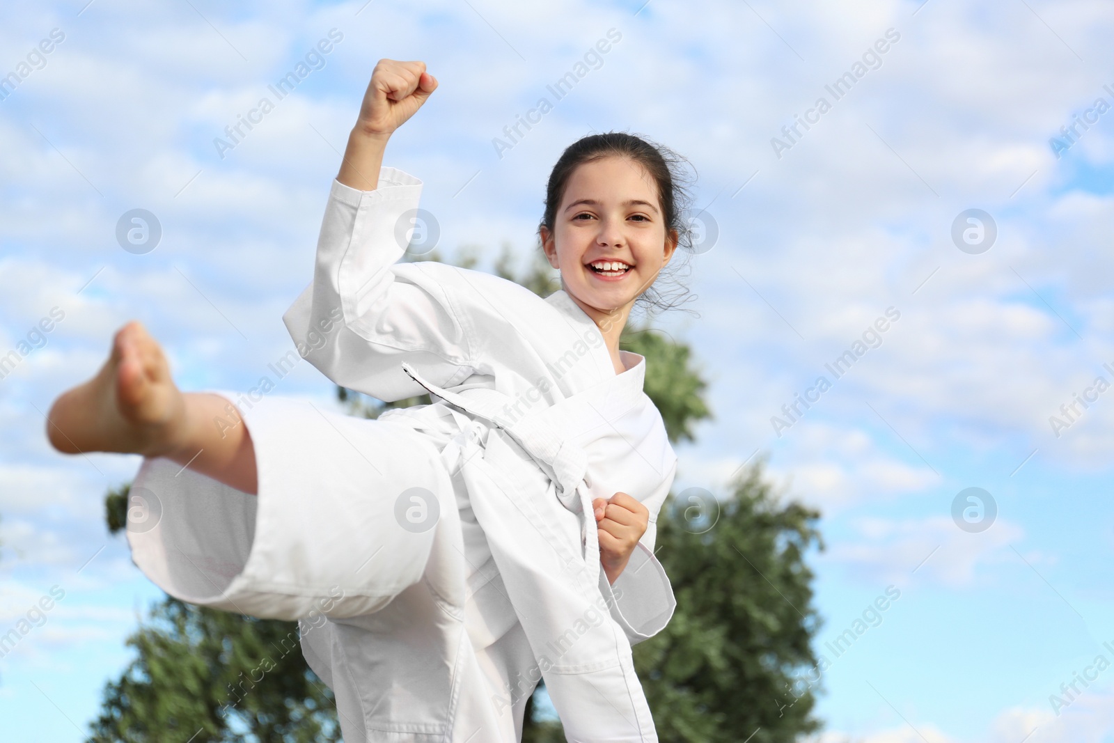
M131 322L55 402L48 436L144 456L135 563L183 600L301 619L348 743L518 741L541 677L569 740L656 741L631 644L675 606L653 550L676 457L645 360L618 341L687 243L673 160L625 134L566 149L538 227L563 287L545 300L395 264L421 182L383 151L437 85L420 61L375 66L314 278L283 317L338 384L433 404L365 420L183 393Z

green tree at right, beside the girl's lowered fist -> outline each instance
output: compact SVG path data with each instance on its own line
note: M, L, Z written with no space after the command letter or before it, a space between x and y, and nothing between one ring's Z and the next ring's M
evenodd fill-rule
M677 608L634 646L663 742L782 743L819 729L802 672L820 627L804 555L820 515L782 502L761 463L727 498L684 491L657 521L658 559ZM753 737L749 737L753 734Z

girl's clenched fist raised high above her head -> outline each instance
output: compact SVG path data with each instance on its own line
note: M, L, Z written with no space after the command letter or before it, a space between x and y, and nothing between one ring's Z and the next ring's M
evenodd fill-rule
M356 129L370 136L389 137L436 89L437 78L426 71L426 62L380 59L363 95Z

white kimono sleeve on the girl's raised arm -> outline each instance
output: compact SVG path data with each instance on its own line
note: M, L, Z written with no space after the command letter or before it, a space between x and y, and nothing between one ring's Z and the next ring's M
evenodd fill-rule
M333 180L317 238L313 281L283 315L299 354L336 384L394 401L431 382L452 387L471 373L473 333L444 285L416 264L398 264L411 228L436 228L418 209L421 180L380 170L375 190ZM428 264L427 264L428 265Z

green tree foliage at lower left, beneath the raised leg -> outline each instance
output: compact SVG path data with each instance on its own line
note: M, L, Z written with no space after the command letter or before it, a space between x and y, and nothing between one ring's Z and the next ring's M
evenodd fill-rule
M113 534L126 526L128 490L105 498ZM136 657L106 684L90 742L340 740L333 694L302 657L296 622L167 596L127 645Z

